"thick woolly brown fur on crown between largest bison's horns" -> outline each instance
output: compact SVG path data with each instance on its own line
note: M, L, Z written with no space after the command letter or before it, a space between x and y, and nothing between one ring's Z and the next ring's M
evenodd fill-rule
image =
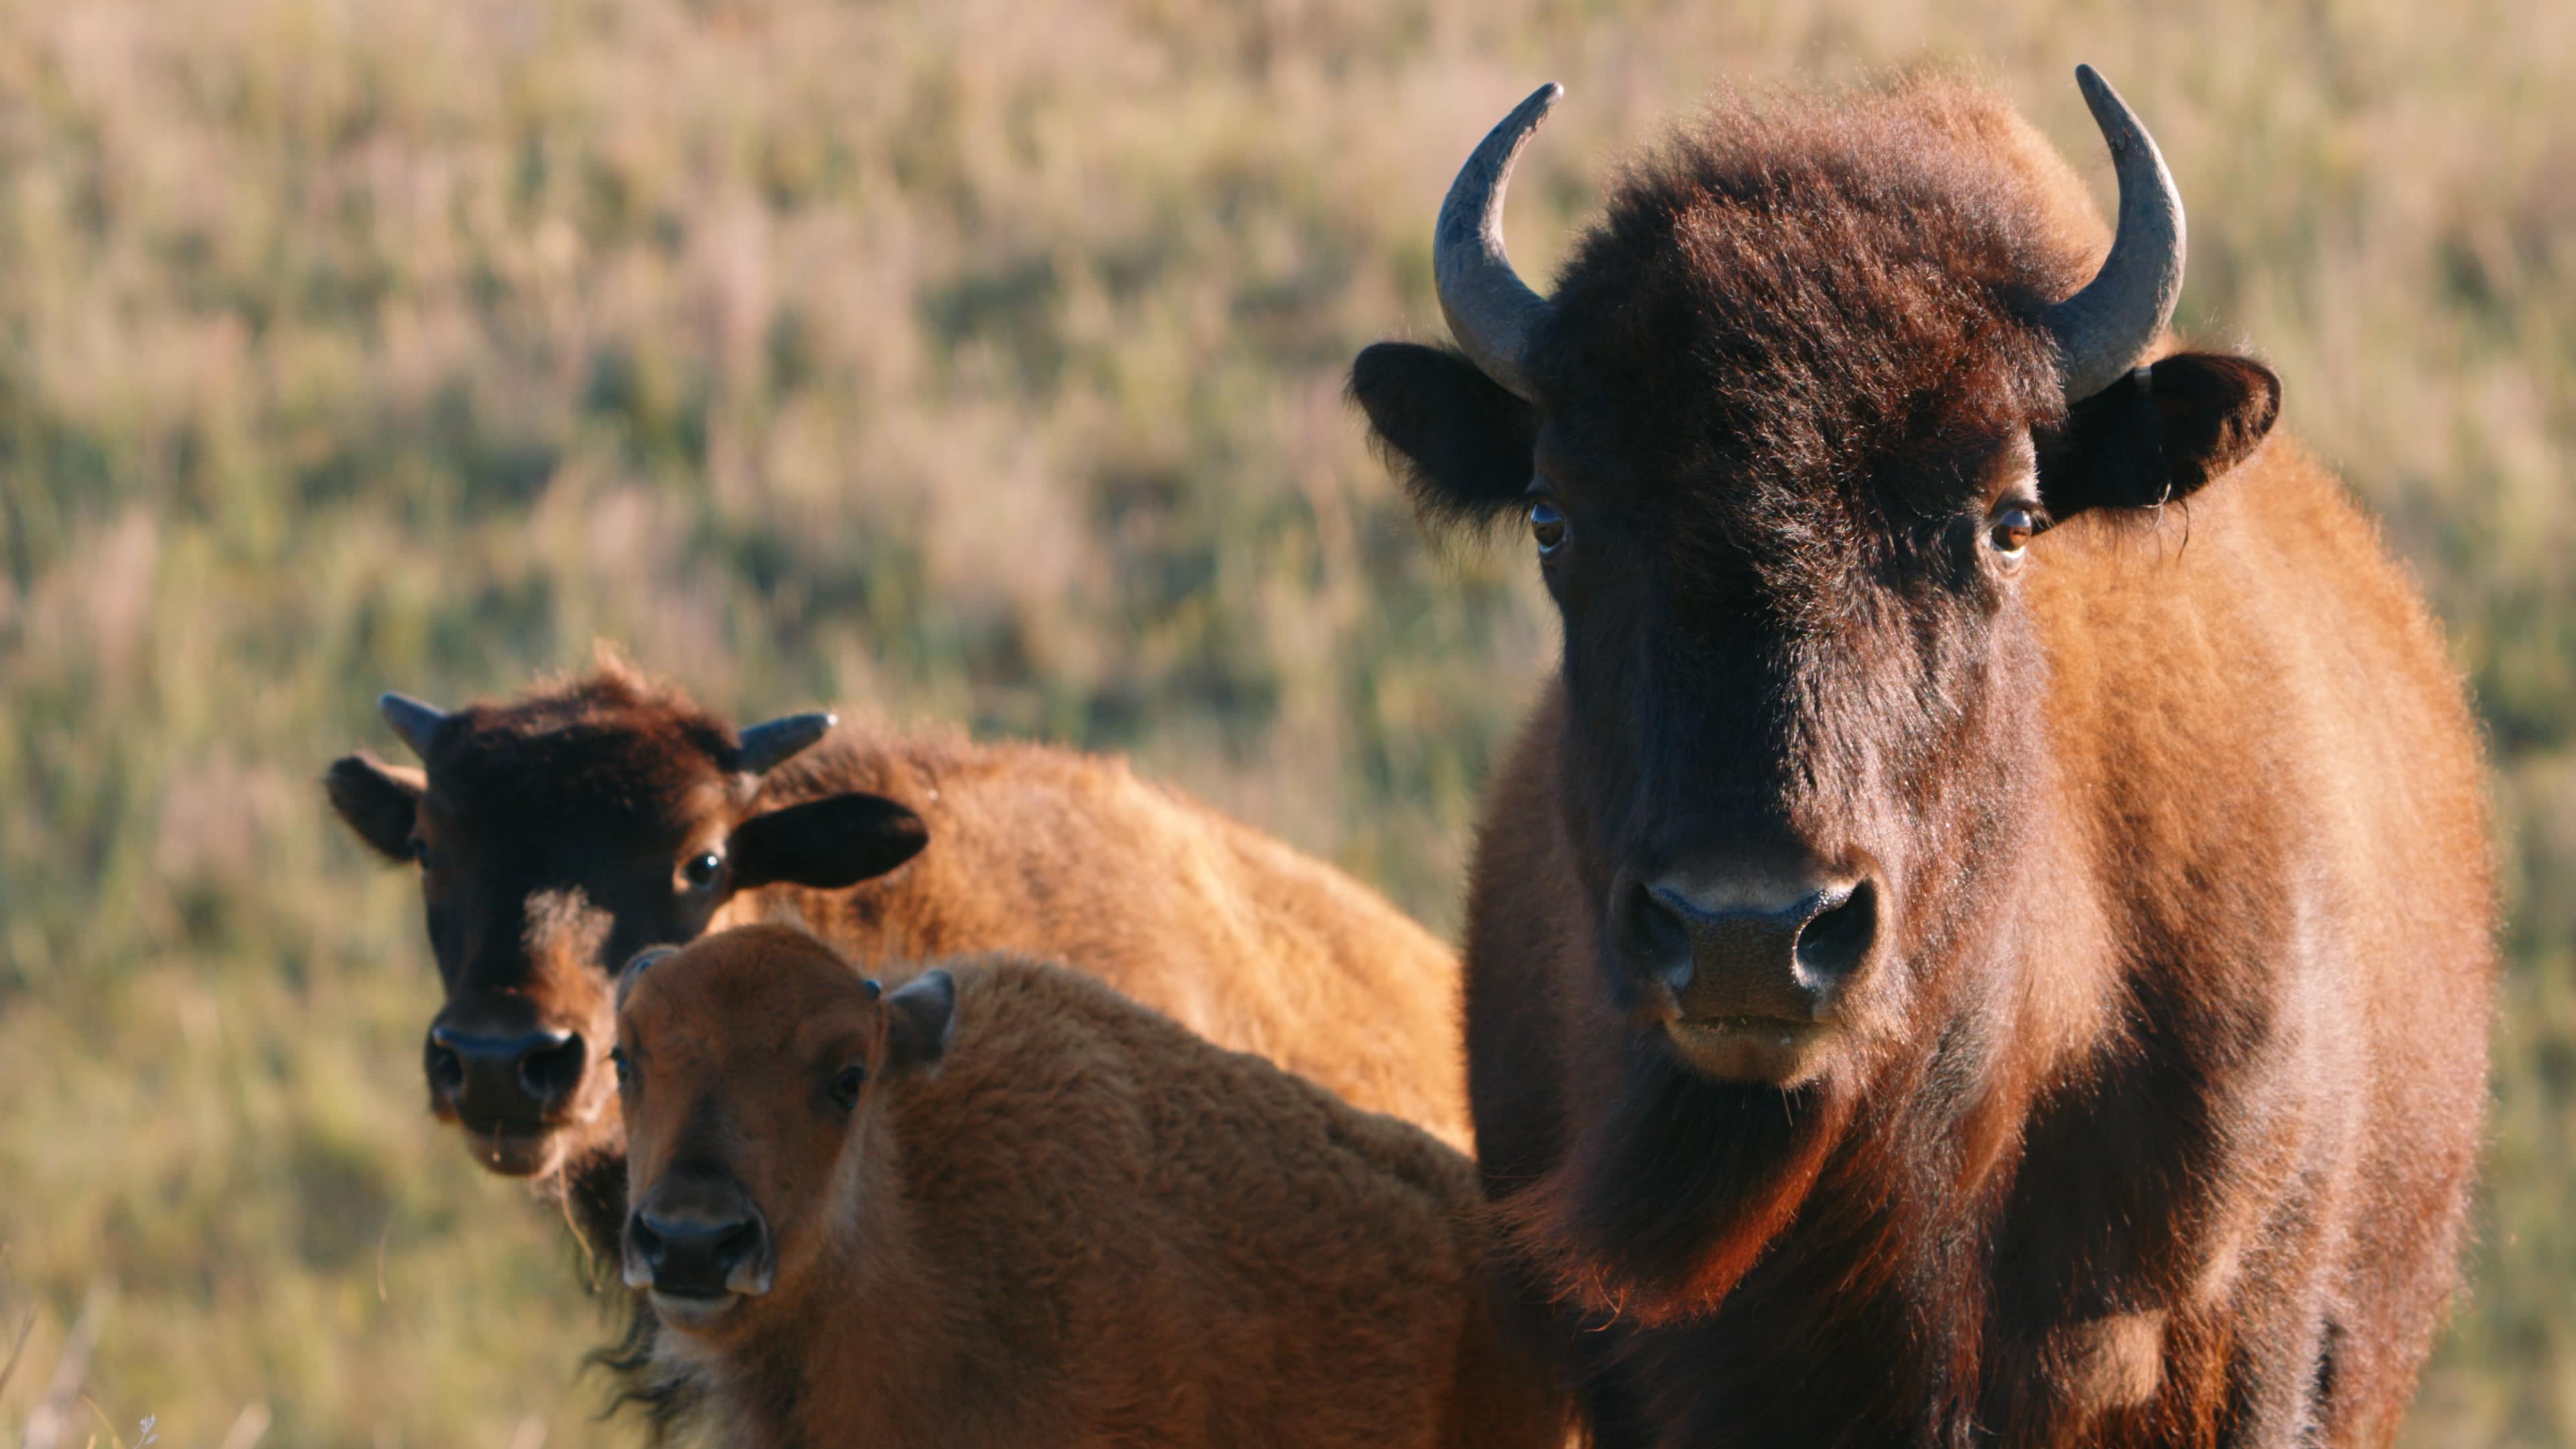
M1615 183L1558 278L1551 443L1739 549L1955 508L2002 431L2061 413L2038 317L2107 245L2066 162L1973 88L1718 103Z

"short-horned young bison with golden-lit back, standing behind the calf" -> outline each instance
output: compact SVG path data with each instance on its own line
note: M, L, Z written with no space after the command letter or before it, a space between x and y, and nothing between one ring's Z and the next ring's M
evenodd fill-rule
M935 954L1059 957L1466 1142L1455 957L1368 887L1123 761L829 714L737 735L616 660L513 704L389 694L384 717L425 768L345 755L325 784L361 841L420 861L446 982L422 1044L430 1106L487 1168L567 1189L595 1248L626 1220L616 967L765 915L889 980Z

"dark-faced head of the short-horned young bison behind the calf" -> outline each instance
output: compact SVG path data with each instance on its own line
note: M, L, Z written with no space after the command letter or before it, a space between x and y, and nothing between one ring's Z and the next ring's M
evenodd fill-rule
M621 1142L608 987L618 962L706 931L732 895L848 887L922 848L876 794L770 807L768 771L832 727L793 714L739 735L623 670L510 706L381 701L422 768L332 763L332 807L420 866L446 1006L422 1057L430 1106L507 1176Z

